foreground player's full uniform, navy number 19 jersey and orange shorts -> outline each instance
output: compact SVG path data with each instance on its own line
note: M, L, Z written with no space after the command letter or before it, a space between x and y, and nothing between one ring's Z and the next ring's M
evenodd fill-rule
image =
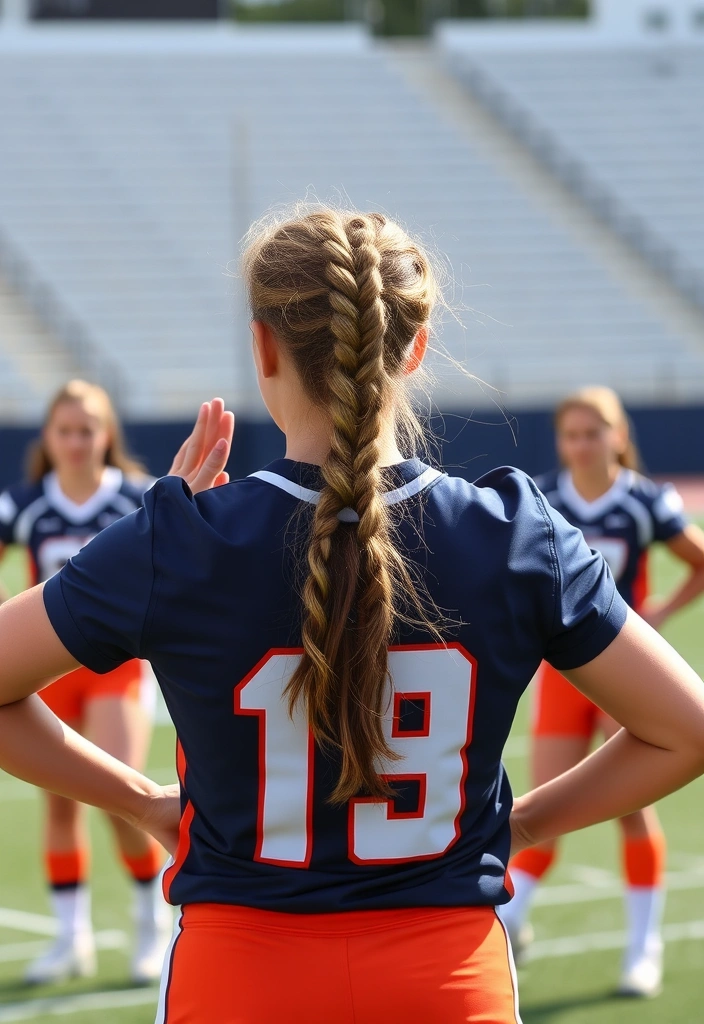
M501 752L540 662L591 660L626 605L518 470L471 484L408 460L385 477L399 546L456 623L446 645L408 625L394 638L390 800L331 805L339 759L281 699L317 467L279 460L195 497L159 480L45 586L67 648L98 673L147 658L176 726L167 1024L519 1020L494 910L511 898Z

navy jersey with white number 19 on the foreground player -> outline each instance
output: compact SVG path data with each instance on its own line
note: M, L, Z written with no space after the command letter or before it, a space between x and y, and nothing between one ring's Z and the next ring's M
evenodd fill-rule
M281 698L301 651L317 467L279 460L195 497L159 480L44 589L83 665L143 657L157 674L182 786L172 903L331 912L509 899L501 752L519 697L542 658L596 657L626 606L602 556L520 471L476 484L416 460L385 472L401 550L456 623L446 645L408 626L395 637L384 728L401 760L379 766L392 800L332 806L339 760Z

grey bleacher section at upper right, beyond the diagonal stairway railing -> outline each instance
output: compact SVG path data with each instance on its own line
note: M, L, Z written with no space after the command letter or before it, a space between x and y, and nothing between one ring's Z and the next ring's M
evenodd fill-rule
M595 210L704 306L700 47L454 51L451 67Z

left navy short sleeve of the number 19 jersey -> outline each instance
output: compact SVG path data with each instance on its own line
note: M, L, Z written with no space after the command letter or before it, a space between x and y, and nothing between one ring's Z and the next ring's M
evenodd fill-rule
M56 635L93 672L141 656L153 583L157 498L156 486L142 508L102 530L44 585Z

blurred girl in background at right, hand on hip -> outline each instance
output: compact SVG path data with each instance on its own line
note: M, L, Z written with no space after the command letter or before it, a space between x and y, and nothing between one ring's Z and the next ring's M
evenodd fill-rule
M601 551L621 596L658 629L704 590L704 534L683 515L671 484L639 473L640 458L621 399L608 387L586 387L568 395L555 413L562 469L538 477L548 502ZM664 601L648 600L648 554L664 542L690 568L689 577ZM546 662L536 681L531 766L535 785L549 781L586 757L593 736L618 731L613 718L571 686ZM662 983L665 837L654 807L619 819L623 841L628 939L619 990L652 996ZM519 853L511 862L516 895L501 911L514 944L523 954L527 924L538 883L552 866L556 843Z

